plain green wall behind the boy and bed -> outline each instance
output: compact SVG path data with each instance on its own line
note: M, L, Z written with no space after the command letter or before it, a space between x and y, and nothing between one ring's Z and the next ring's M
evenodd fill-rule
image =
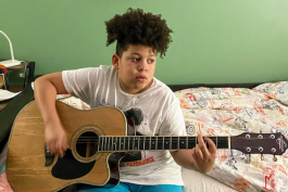
M287 0L0 0L0 30L36 75L111 65L104 21L129 7L162 14L174 30L155 72L166 84L288 79ZM10 57L1 36L0 57Z

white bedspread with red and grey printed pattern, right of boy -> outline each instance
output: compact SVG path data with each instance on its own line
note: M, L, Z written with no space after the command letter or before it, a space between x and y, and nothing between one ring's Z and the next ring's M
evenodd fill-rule
M288 81L263 84L253 89L201 87L175 94L188 135L280 132L288 137ZM287 149L287 140L280 144ZM220 149L215 166L208 175L241 192L288 191L288 151L276 155L276 162L273 157Z

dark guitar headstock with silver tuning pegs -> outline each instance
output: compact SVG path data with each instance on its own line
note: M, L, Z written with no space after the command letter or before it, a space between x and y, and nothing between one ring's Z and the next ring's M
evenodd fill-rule
M288 141L280 132L251 133L243 132L230 138L230 149L239 150L246 154L281 155L287 150Z

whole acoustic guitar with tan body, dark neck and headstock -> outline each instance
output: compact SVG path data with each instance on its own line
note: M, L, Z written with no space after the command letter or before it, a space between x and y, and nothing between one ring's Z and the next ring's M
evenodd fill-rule
M198 143L197 137L191 136L128 136L127 119L115 107L82 111L57 101L57 110L70 148L62 158L46 149L45 125L35 101L15 118L7 162L8 181L15 192L59 191L73 183L117 184L118 163L126 152L185 150ZM247 154L281 155L287 149L281 133L245 132L210 138L217 149Z

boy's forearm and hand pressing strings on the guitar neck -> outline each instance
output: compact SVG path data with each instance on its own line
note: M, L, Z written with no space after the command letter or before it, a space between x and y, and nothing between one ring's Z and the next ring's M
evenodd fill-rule
M201 133L198 133L198 141L199 143L192 150L178 150L171 154L174 161L185 168L209 172L214 166L216 146L211 139L205 138L208 149Z

